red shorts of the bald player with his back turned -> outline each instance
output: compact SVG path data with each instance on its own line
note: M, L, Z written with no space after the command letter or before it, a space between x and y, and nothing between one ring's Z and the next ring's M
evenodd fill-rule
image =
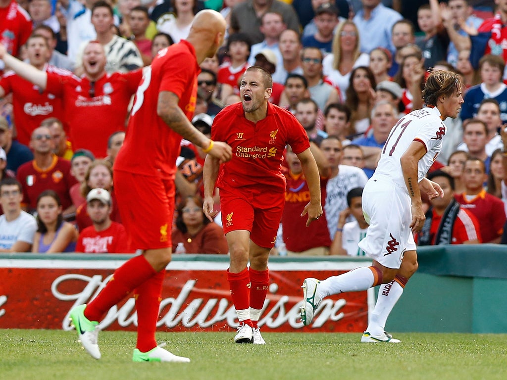
M174 180L115 171L115 195L133 249L172 246Z

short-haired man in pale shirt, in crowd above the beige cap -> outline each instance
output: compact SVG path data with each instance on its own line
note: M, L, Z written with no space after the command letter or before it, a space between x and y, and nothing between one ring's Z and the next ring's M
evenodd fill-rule
M278 49L278 41L280 40L280 34L286 28L287 26L283 22L281 14L277 12L266 12L262 15L260 30L262 34L264 34L264 40L251 46L250 58L248 58L250 66L255 64L257 54L259 54L261 50L265 49L269 49L276 54L278 62L282 61L282 55L280 53L280 49Z

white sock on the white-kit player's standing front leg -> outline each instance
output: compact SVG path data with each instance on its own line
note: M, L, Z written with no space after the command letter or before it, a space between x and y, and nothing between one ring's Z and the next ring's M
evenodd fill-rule
M374 336L381 335L384 332L387 317L391 314L402 293L403 287L397 281L393 280L388 284L380 285L377 303L370 315L370 322L366 331Z

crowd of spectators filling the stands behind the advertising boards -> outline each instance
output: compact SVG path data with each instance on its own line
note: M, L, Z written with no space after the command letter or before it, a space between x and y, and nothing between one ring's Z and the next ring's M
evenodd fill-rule
M309 188L287 147L272 254L365 254L362 189L391 129L423 106L433 68L459 73L466 90L428 173L445 196L424 200L416 241L507 244L507 0L0 0L0 44L25 62L0 60L0 252L132 252L113 165L133 95L142 102L143 67L205 8L222 13L228 35L201 64L192 124L210 137L214 117L240 101L245 70L261 66L270 102L294 113L319 169L324 213L307 228ZM175 253L228 252L220 215L202 211L205 157L182 141Z

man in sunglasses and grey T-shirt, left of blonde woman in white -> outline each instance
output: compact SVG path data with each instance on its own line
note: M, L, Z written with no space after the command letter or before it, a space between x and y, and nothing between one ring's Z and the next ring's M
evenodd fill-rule
M340 102L338 90L322 80L322 51L316 47L307 47L301 53L303 77L308 82L310 97L315 100L319 109L328 104Z

